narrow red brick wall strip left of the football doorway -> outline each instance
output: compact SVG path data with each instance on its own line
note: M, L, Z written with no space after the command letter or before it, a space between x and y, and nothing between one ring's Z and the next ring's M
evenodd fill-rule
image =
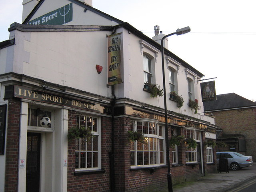
M9 100L8 102L5 192L17 192L20 142L20 102L15 99Z

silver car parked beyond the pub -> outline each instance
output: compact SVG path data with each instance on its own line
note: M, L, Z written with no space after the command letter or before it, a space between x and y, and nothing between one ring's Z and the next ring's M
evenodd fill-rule
M217 164L219 164L219 158L228 159L228 167L232 170L239 170L243 167L252 166L252 156L244 156L238 152L217 152Z

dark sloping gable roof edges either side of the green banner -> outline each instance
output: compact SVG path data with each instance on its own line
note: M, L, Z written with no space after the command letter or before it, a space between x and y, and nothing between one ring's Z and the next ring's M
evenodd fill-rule
M100 16L106 18L106 19L109 19L109 20L113 20L115 22L117 22L118 24L122 24L124 23L123 21L117 19L117 18L114 18L98 9L95 9L87 4L84 4L83 2L79 1L79 0L69 0L70 2L73 2L79 6L82 6L83 8L85 8L86 10L90 10L94 13L97 13L99 14ZM24 22L22 22L22 24L27 24L29 22L29 20L32 18L32 16L36 13L36 11L38 10L38 8L40 8L40 6L42 5L42 3L44 2L44 0L40 0L38 2L38 4L34 7L34 9L30 12L30 14L27 16L27 18L24 20Z

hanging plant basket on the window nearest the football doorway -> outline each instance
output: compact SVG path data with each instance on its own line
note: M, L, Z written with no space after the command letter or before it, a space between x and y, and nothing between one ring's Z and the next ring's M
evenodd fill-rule
M94 137L90 127L75 126L68 130L68 141L72 141L74 138L86 138L90 139Z

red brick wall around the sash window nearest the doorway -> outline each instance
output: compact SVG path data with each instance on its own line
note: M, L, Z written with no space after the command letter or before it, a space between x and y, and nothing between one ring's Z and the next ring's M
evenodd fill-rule
M75 118L69 112L69 125L71 128L76 124ZM75 176L75 140L68 143L68 192L109 192L110 191L110 164L108 152L111 150L111 118L101 118L102 131L102 169L105 173L87 174Z

